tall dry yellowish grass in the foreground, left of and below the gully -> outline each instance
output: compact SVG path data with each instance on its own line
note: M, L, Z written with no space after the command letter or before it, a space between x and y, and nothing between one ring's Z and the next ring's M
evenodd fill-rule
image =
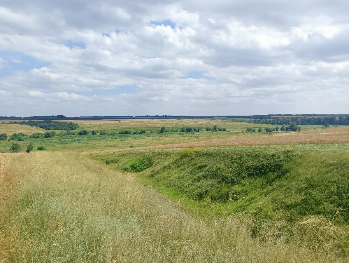
M73 153L14 156L1 183L1 195L3 183L17 185L3 201L11 203L1 215L5 262L348 260L346 229L322 218L295 226L246 215L200 219L132 176L98 173L98 163Z

